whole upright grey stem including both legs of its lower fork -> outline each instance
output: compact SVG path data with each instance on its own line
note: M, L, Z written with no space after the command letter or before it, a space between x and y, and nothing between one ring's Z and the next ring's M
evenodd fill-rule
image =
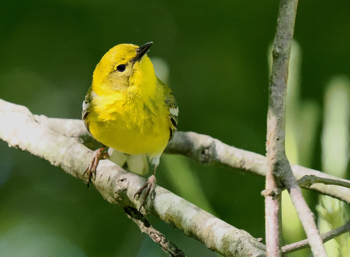
M326 257L314 216L302 196L285 152L286 95L290 49L298 0L281 0L272 50L272 72L267 113L266 246L268 256L281 256L281 195L273 191L286 187L303 225L315 257Z

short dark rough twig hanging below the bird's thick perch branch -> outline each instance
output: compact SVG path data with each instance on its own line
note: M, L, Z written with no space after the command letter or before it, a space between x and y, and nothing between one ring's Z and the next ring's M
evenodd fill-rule
M142 233L147 234L151 239L156 242L165 252L169 253L172 257L187 257L175 244L170 242L161 232L153 228L144 215L142 215L137 209L131 207L124 208L127 216L135 222Z

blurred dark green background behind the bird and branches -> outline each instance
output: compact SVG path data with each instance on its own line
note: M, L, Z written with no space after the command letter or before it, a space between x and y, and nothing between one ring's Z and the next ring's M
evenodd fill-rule
M276 0L1 1L0 98L34 114L80 119L100 58L119 43L153 41L148 56L166 63L166 80L180 108L179 130L265 155L267 52L278 6ZM305 105L308 111L290 115L289 128L309 134L288 139L287 129L287 140L293 162L318 170L325 91L334 76L345 75L345 84L350 76L349 12L349 1L309 0L298 6L299 62L293 76L299 80L293 82L298 90L289 106L304 114ZM297 158L298 149L307 160ZM344 161L343 176L349 177ZM167 256L121 208L48 162L1 141L0 163L1 256ZM265 237L264 178L163 156L157 179L229 224ZM182 180L190 183L185 187ZM307 198L315 211L317 194ZM189 256L217 256L150 219ZM287 234L303 236L300 230ZM287 235L285 242L290 240ZM308 255L306 250L294 256Z

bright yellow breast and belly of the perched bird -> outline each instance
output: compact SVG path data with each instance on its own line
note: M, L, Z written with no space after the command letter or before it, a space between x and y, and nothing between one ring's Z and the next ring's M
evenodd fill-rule
M161 96L161 94L159 94ZM96 140L127 154L161 154L169 141L169 117L164 101L122 93L96 96L87 116Z

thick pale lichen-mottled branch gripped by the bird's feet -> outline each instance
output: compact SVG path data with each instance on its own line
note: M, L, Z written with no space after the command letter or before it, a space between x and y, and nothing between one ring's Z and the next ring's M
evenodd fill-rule
M26 107L3 100L0 100L0 120L1 124L6 124L0 126L0 138L9 146L44 158L66 173L86 181L83 174L92 151L79 138L61 135L38 123ZM100 161L96 179L92 181L107 201L135 209L140 203L134 194L144 182L144 178L126 172L108 160ZM224 256L265 254L265 245L248 232L231 226L162 187L157 186L155 193L153 201L148 199L142 210L172 224L184 235L203 242L209 249Z

